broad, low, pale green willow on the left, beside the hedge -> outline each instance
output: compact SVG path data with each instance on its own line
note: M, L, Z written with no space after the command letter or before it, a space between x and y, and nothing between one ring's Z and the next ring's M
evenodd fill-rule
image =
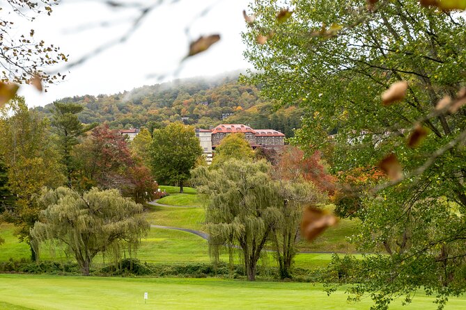
M38 204L47 209L31 229L36 252L40 242L56 240L75 256L83 275L89 275L99 253L118 259L124 247L130 253L136 250L150 227L143 206L121 197L118 190L93 188L81 195L64 187L44 189Z

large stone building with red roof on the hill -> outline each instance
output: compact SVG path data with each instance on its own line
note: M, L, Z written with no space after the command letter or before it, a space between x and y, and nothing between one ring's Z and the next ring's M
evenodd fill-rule
M199 138L208 164L212 163L212 150L230 133L243 133L253 149L256 147L280 149L285 145L285 135L274 129L252 129L244 124L219 124L212 130L196 129L196 136Z

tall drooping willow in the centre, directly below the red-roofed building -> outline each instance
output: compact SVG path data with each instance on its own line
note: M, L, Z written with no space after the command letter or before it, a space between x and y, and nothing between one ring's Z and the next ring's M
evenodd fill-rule
M212 258L218 261L219 249L224 245L239 247L249 281L256 279L258 259L281 216L269 170L265 161L232 159L215 170L199 167L192 172L199 193L210 197L205 223ZM233 251L230 255L232 258Z

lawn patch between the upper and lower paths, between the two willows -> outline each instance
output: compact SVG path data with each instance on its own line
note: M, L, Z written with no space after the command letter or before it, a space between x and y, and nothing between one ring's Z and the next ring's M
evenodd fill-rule
M205 213L200 207L149 206L147 220L153 225L203 230Z

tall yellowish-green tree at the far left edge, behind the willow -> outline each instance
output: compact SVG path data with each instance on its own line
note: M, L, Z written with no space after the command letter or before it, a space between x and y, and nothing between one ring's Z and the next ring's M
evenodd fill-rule
M43 186L62 185L64 178L47 120L29 111L22 98L10 101L10 105L11 110L0 120L0 156L5 158L8 189L16 196L16 201L3 218L15 224L15 234L20 241L31 245L29 230L40 211L33 196ZM34 257L31 247L31 258Z

